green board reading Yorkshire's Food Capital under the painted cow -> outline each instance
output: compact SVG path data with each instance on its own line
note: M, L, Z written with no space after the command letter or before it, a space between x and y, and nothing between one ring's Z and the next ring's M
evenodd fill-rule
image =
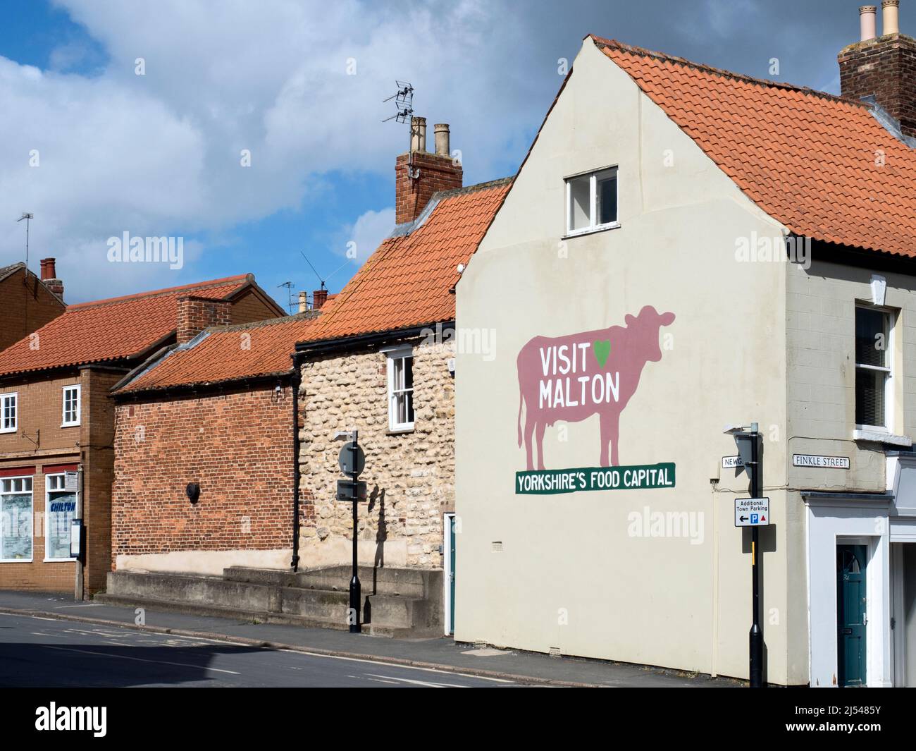
M534 469L516 472L517 495L577 491L635 491L674 487L674 462L631 467Z

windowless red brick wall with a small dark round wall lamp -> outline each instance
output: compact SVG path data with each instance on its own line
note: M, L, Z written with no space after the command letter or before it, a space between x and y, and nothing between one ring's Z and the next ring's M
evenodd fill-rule
M276 550L292 541L292 392L116 408L112 554ZM191 504L189 482L201 486Z

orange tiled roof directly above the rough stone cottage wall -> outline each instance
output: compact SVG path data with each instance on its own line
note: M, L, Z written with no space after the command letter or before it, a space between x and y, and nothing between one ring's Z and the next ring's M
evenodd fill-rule
M459 263L467 263L510 179L436 193L409 234L388 237L311 327L310 341L451 321Z

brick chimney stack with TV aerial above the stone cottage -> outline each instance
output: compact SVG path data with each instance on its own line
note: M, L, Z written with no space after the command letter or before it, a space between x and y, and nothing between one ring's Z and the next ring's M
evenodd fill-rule
M449 148L449 127L434 126L436 151L426 150L426 118L410 119L410 150L395 160L395 222L416 219L433 193L460 188L461 164L453 160Z

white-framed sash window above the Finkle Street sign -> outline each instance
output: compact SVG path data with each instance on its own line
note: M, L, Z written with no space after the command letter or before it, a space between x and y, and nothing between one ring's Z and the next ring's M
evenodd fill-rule
M894 314L874 305L856 306L856 428L893 429Z

